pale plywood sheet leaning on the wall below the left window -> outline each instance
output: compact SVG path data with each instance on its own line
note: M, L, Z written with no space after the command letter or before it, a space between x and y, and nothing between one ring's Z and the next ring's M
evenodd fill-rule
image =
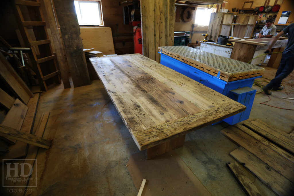
M110 27L82 27L80 30L84 48L115 54Z

